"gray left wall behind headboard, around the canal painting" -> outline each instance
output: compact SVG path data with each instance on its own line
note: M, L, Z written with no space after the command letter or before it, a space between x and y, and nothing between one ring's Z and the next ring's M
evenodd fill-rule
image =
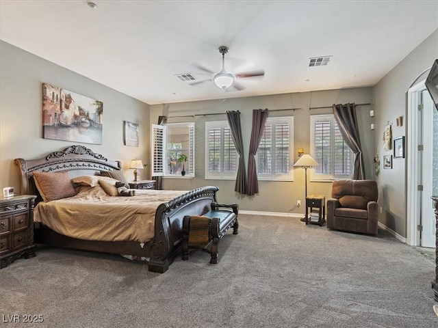
M37 159L75 142L42 139L42 83L63 87L103 102L103 144L83 144L122 161L125 174L136 157L149 161L149 105L47 60L0 42L0 188L19 191L16 158ZM123 144L123 121L140 124L140 147ZM147 171L147 170L143 170ZM141 172L146 178L146 172Z

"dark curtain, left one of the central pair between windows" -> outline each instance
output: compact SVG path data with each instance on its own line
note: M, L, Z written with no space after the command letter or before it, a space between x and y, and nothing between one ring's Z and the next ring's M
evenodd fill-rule
M239 166L237 168L234 191L246 194L248 184L246 183L244 141L242 138L242 124L240 124L240 111L227 111L227 120L231 129L231 137L233 137L235 149L239 154Z

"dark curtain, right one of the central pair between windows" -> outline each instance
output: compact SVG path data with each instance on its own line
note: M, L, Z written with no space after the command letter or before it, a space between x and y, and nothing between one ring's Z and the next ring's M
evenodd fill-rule
M268 109L253 109L253 128L251 130L248 156L248 192L246 193L246 195L249 196L259 193L255 154L257 153L257 149L259 149L261 136L265 130L266 118L268 118Z

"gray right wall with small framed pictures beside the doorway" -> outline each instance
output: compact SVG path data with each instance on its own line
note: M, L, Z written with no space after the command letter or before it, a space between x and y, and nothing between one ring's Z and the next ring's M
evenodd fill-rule
M384 155L393 154L392 150L383 150L383 131L387 122L392 122L393 137L406 137L407 127L407 90L426 76L419 75L432 66L438 58L438 30L435 30L424 42L389 72L374 87L376 112L376 152L381 161ZM396 118L404 117L402 127L396 126ZM409 156L409 154L408 154ZM402 237L407 236L407 157L393 159L392 169L381 169L376 179L379 189L378 206L382 208L378 220L387 228Z

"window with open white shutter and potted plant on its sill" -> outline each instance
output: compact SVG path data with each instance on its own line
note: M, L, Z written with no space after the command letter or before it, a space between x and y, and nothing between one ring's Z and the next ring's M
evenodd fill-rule
M194 123L152 124L152 176L194 177ZM188 161L179 163L181 154Z

